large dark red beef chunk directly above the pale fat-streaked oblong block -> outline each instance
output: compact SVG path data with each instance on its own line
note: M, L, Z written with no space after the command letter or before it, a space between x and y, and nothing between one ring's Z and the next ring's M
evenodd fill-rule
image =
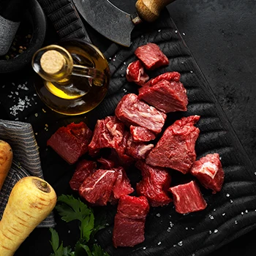
M187 91L181 82L161 80L153 86L143 86L138 97L164 113L187 111Z

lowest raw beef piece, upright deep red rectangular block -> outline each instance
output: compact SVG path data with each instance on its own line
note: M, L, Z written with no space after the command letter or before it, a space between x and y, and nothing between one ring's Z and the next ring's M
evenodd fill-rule
M146 197L121 196L113 228L113 246L135 246L144 241L149 204Z

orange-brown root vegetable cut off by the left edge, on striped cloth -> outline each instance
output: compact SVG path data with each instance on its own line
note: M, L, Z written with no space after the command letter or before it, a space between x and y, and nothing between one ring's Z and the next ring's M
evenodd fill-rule
M12 165L12 148L4 140L0 140L0 191Z

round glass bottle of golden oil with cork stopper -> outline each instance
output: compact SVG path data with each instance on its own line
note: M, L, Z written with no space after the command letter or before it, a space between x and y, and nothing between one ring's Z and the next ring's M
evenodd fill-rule
M66 39L34 53L37 94L50 109L80 115L94 109L108 91L110 71L105 56L82 39Z

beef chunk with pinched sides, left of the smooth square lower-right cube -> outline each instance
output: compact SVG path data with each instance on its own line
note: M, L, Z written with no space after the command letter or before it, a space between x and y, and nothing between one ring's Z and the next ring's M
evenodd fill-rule
M153 167L145 162L138 161L135 165L143 176L137 184L136 191L138 195L147 197L151 206L166 206L172 200L168 196L170 187L170 173L165 168Z

